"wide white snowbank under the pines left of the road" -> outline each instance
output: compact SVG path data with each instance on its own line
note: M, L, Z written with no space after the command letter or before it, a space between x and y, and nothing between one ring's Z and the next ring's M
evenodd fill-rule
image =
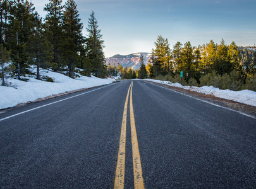
M32 72L36 72L35 68ZM0 86L0 109L10 108L20 103L35 101L38 98L45 98L51 95L57 95L66 91L74 91L83 88L92 88L104 84L110 84L116 79L99 79L97 77L77 77L71 79L64 74L40 69L40 75L52 77L54 83L40 81L33 77L27 77L28 82L18 79L8 79L13 87Z

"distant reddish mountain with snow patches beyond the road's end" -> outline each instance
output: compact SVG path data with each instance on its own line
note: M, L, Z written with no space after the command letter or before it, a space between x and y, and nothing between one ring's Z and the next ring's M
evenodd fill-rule
M150 58L151 53L147 52L139 52L135 54L129 55L119 55L116 54L113 57L106 58L106 64L121 64L123 67L131 67L132 69L139 69L140 68L140 55L143 55L144 64L147 66L147 62Z

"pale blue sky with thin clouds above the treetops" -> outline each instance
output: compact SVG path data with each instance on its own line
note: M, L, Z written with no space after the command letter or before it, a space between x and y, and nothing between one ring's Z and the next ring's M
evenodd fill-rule
M42 18L48 0L30 0ZM63 0L63 5L66 0ZM92 11L101 29L106 57L152 52L159 35L171 49L176 42L192 46L210 40L238 46L256 43L255 0L75 0L83 35Z

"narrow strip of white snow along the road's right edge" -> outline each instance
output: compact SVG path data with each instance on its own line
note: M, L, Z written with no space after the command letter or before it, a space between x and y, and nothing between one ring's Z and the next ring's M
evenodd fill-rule
M226 100L233 100L239 103L244 103L247 105L256 106L256 92L250 90L243 91L231 91L229 89L221 90L219 88L214 88L213 86L181 86L180 83L171 83L169 81L160 81L155 79L145 79L146 81L152 81L155 83L166 84L168 86L174 86L177 88L183 88L190 91L195 91L197 93L203 93L205 95L213 95L219 98L223 98Z

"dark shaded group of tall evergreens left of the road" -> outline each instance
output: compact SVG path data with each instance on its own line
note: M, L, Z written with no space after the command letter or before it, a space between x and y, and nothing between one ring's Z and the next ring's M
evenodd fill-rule
M40 76L40 68L62 72L70 77L76 73L105 77L104 40L92 11L88 19L88 36L82 35L83 23L74 0L62 5L62 0L49 0L41 18L32 1L1 0L0 63L2 85L6 77L26 81L30 65L37 66L37 79L52 81ZM9 64L11 62L11 64Z

